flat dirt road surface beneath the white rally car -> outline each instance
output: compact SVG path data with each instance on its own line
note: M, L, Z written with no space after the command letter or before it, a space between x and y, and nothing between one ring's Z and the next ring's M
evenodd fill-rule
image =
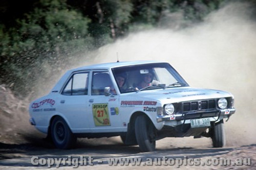
M32 135L33 134L33 135ZM122 144L119 137L100 138L100 139L79 139L77 146L72 150L54 149L51 142L44 139L44 135L30 131L27 134L6 135L6 140L9 137L15 137L18 140L13 140L19 144L0 143L0 169L48 169L48 165L33 165L32 159L49 158L76 158L79 159L91 157L93 165L80 165L79 163L72 163L69 165L58 165L56 162L50 166L50 169L73 169L87 168L90 169L164 169L174 168L179 166L180 169L255 169L256 168L256 145L251 144L244 147L226 147L226 148L212 148L211 141L208 138L193 139L188 138L165 138L157 141L157 149L155 152L141 153L138 146L125 146ZM24 139L26 142L20 141ZM9 138L10 140L10 138ZM124 159L141 159L140 165L109 165L110 158L124 158ZM182 165L176 162L164 163L163 158L182 160ZM228 165L221 166L220 159L230 159L231 162L237 159L242 161L245 158L250 158L249 165ZM153 160L153 163L147 164L148 160ZM159 162L158 159L161 159ZM191 161L200 159L200 165L191 165ZM177 160L176 160L177 161ZM210 161L210 162L209 162ZM208 164L206 165L206 163ZM190 163L190 164L189 164ZM205 163L205 164L204 164ZM56 167L57 166L57 167Z

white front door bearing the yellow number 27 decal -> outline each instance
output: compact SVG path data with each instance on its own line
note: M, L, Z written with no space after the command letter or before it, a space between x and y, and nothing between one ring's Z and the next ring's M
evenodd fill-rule
M104 88L110 87L110 95L104 95ZM118 95L109 71L92 71L92 85L90 95L90 108L93 121L92 132L120 132L122 126Z

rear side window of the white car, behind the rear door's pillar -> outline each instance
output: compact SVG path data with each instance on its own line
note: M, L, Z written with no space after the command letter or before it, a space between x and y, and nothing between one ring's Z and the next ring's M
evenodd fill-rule
M74 74L62 91L63 95L87 95L89 72Z

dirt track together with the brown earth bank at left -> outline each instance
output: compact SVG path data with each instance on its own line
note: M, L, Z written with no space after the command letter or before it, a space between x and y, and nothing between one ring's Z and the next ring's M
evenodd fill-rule
M100 139L78 139L75 149L59 150L45 139L45 135L39 133L28 123L29 115L26 107L26 100L20 101L14 97L10 90L1 86L1 96L3 96L0 110L1 131L0 131L0 169L48 169L47 166L34 166L31 163L33 156L40 158L79 158L80 156L93 158L93 166L90 169L164 169L170 168L162 162L161 166L110 166L108 158L142 158L146 162L147 158L200 158L205 161L208 158L251 158L250 166L206 166L201 165L201 169L255 169L256 168L256 145L246 145L244 147L228 144L226 148L215 149L211 147L209 138L193 139L186 138L165 138L157 141L155 152L140 153L138 146L125 146L119 137ZM227 136L228 137L228 136ZM228 141L230 138L227 138ZM229 143L229 142L227 142ZM98 162L100 161L100 162ZM176 167L177 165L172 165ZM78 166L84 168L85 166ZM56 164L51 166L55 169ZM73 169L72 166L61 165L60 169ZM181 166L180 169L197 169L199 166Z

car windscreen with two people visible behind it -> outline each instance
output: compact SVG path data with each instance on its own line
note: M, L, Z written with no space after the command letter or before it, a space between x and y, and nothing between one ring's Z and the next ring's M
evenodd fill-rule
M121 93L188 86L168 63L150 63L112 68Z

